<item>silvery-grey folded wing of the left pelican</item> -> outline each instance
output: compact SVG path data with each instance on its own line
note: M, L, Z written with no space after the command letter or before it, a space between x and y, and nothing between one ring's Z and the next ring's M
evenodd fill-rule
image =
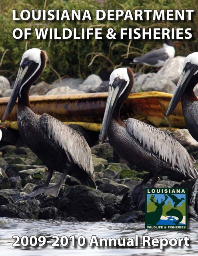
M84 136L48 114L42 114L40 125L47 136L64 149L68 159L73 160L94 180L92 154Z

